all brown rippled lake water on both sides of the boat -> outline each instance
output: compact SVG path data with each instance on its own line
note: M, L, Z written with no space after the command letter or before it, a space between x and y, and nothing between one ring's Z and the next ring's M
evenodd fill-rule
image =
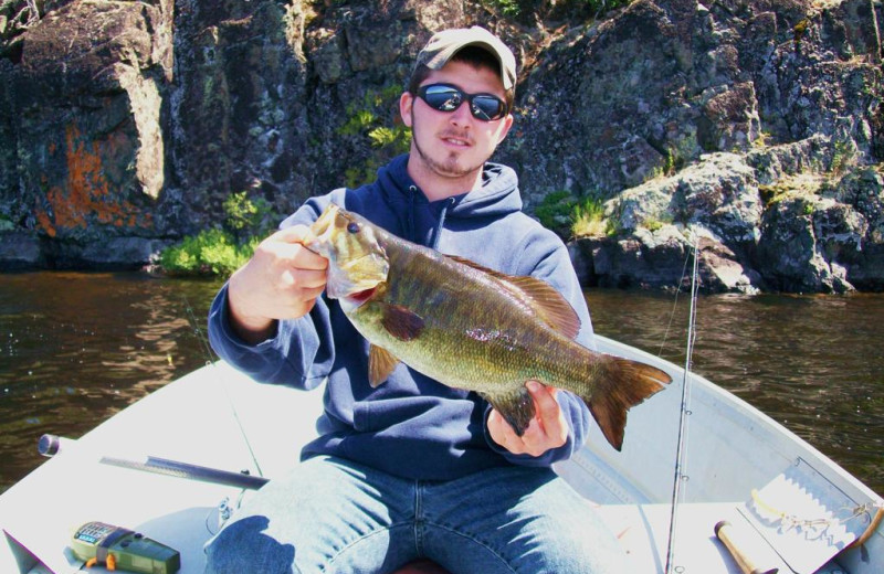
M206 363L219 286L0 275L0 491L43 460L43 433L77 438ZM587 300L597 332L684 363L685 294L590 289ZM693 369L884 493L882 319L884 295L701 297Z

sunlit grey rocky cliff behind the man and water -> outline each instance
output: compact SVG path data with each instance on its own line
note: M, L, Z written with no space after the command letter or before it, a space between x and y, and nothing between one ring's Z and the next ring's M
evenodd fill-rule
M884 288L877 1L597 6L3 0L0 261L139 266L232 192L287 213L364 181L418 50L481 23L520 61L495 159L528 209L604 203L588 285L678 285L696 244L707 290Z

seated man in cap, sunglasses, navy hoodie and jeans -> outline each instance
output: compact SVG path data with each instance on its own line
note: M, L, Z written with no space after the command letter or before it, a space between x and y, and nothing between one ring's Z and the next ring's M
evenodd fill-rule
M582 445L586 405L526 382L523 436L475 393L399 365L368 383L368 343L320 297L327 261L304 247L329 202L440 252L550 283L589 312L562 243L522 213L516 174L487 162L513 125L513 53L474 26L418 56L402 120L410 152L377 181L307 201L233 274L210 312L218 353L259 381L327 379L318 438L207 548L209 572L392 572L430 559L453 573L622 572L617 542L549 466Z

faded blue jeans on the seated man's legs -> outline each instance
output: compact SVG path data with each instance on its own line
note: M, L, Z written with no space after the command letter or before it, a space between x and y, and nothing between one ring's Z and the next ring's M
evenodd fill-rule
M453 574L613 574L623 554L549 469L436 482L313 458L262 488L207 545L209 573L386 573L427 557Z

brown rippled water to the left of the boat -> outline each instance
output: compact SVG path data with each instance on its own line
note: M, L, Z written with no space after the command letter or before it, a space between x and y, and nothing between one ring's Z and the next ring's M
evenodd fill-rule
M0 491L44 460L43 433L78 438L206 363L194 326L204 333L218 286L136 273L0 275Z

